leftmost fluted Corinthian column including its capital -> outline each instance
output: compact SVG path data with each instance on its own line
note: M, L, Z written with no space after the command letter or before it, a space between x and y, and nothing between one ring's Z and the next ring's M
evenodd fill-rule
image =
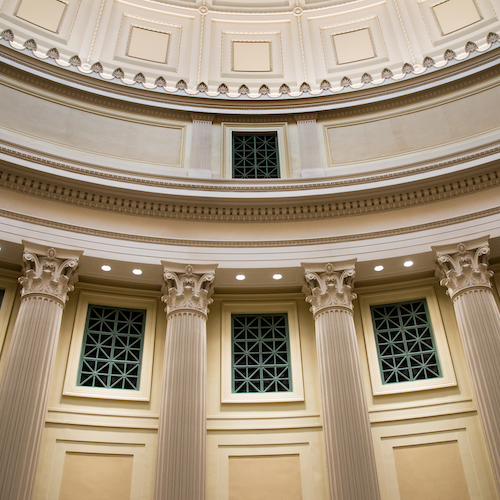
M24 276L0 382L0 498L31 498L61 318L82 252L24 242Z

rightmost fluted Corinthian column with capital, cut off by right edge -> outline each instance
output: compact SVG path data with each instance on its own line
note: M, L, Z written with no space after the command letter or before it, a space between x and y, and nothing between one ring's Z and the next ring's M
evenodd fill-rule
M491 289L488 238L433 247L453 301L493 475L500 493L500 312Z

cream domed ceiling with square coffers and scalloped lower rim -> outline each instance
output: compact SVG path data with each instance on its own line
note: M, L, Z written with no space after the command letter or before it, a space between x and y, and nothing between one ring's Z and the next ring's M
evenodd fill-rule
M5 0L0 32L4 46L117 84L269 100L477 57L498 46L497 10L488 0Z

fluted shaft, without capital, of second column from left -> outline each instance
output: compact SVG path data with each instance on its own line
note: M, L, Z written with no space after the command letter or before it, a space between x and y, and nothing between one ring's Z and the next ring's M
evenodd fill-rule
M157 500L205 498L206 317L168 318L158 429Z

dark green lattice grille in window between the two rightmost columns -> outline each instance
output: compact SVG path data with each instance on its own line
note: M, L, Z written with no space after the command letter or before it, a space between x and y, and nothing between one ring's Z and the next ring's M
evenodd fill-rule
M427 302L371 307L382 383L441 377Z

